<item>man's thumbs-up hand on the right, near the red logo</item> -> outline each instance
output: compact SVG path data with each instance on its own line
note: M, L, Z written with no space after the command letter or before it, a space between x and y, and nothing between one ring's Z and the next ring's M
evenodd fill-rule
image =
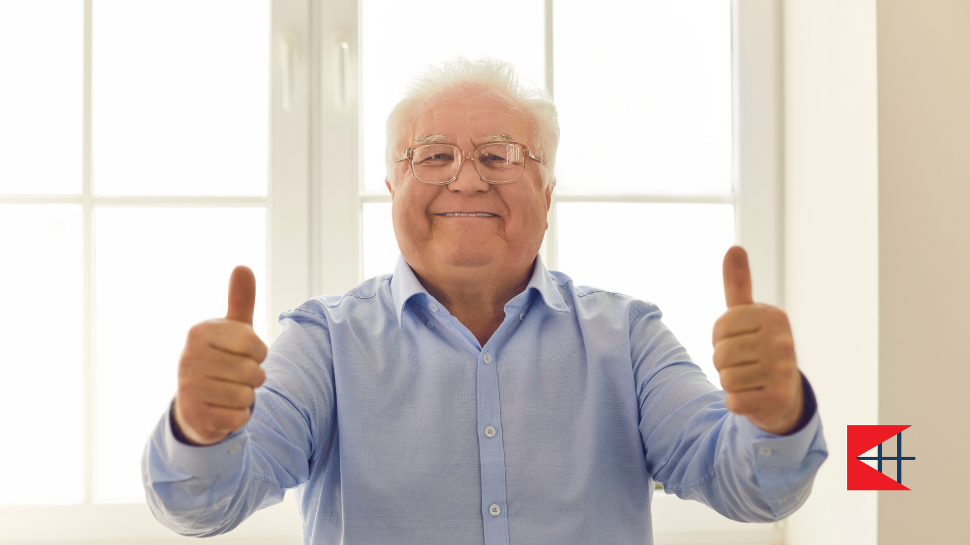
M788 316L752 300L748 254L741 246L727 250L724 276L727 312L714 322L714 367L727 391L727 409L765 432L789 433L801 417L804 393Z

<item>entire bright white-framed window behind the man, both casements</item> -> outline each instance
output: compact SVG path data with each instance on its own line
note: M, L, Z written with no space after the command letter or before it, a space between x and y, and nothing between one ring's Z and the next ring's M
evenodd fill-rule
M756 297L780 303L774 3L585 6L497 0L497 24L443 0L0 3L0 66L18 82L0 86L16 385L0 410L27 415L8 436L31 437L0 449L17 468L0 528L20 532L0 542L172 536L139 499L138 461L186 329L224 312L240 263L268 339L280 310L393 269L384 118L415 71L456 54L510 60L555 96L550 269L657 303L702 367L729 243L748 247ZM419 15L435 40L415 37ZM585 163L590 137L620 159ZM658 543L777 531L655 498ZM298 542L294 505L228 539L260 535Z

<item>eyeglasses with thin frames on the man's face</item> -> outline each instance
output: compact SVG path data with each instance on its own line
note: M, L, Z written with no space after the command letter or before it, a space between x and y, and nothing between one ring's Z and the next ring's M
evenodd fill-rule
M526 172L526 159L541 162L519 142L481 144L467 157L451 144L424 144L408 147L395 163L410 160L411 174L425 183L444 185L455 181L462 170L462 159L471 159L482 181L509 183Z

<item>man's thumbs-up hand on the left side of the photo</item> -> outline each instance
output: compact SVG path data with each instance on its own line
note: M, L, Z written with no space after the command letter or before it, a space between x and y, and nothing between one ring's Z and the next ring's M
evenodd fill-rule
M229 277L229 311L225 318L192 326L178 362L175 416L192 442L221 441L249 420L253 391L266 373L259 364L266 344L252 331L256 277L237 267Z

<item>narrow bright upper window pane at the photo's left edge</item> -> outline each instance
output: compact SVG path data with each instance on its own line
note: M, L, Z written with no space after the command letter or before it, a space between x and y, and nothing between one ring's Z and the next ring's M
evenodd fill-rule
M80 193L84 3L0 2L0 193Z

